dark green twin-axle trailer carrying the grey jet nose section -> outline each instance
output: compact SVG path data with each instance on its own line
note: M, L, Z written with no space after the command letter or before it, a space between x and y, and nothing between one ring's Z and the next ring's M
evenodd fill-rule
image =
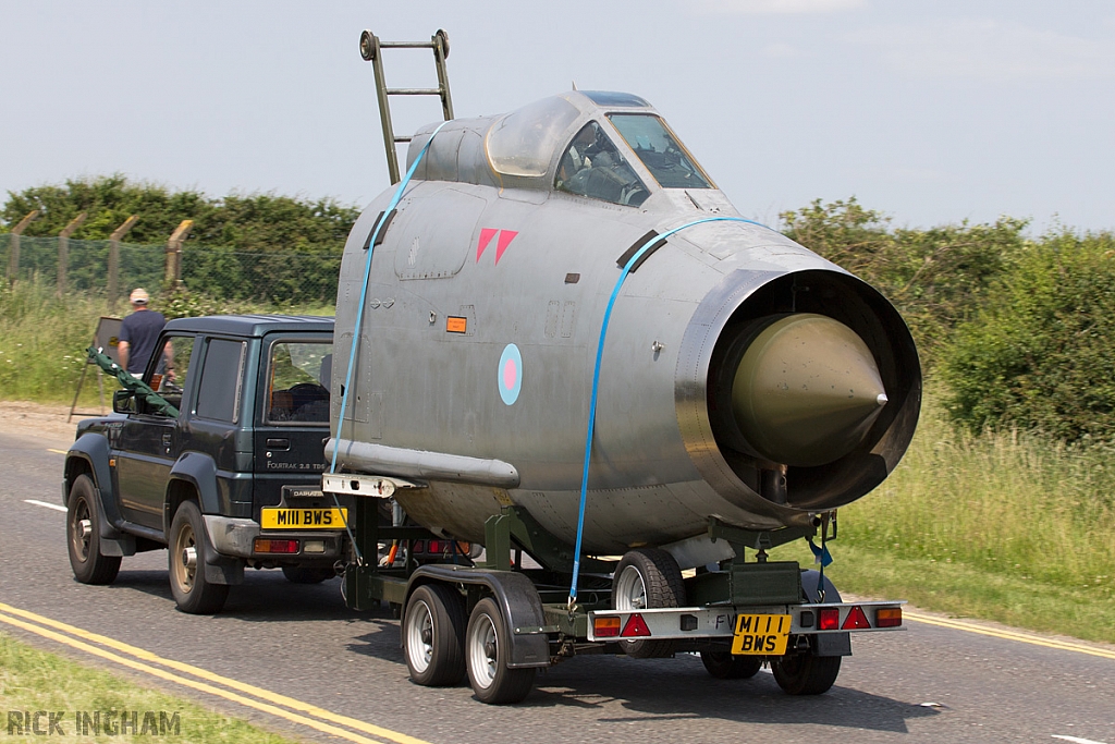
M381 500L420 482L332 473L322 487L353 496L348 607L391 603L411 679L455 685L467 674L484 703L516 703L537 669L584 654L699 654L718 678L750 677L767 664L786 693L816 695L852 654L851 634L903 629L903 601L844 602L823 572L768 560L768 550L818 532L822 544L833 539L835 520L757 531L710 518L708 537L726 541L735 558L687 576L656 548L582 558L573 601L573 548L521 508L505 505L488 519L483 560L474 560L452 535L382 522ZM430 559L429 541L448 549L443 558ZM386 560L392 543L401 547L401 567Z

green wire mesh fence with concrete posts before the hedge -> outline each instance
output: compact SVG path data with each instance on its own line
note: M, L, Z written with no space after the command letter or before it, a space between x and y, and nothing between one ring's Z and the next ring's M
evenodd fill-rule
M0 234L0 271L10 280L61 284L65 291L104 293L112 301L135 287L155 290L181 280L191 292L217 300L272 305L331 305L337 300L341 249L330 253L249 253L186 243L181 265L165 245ZM114 297L115 296L115 297Z

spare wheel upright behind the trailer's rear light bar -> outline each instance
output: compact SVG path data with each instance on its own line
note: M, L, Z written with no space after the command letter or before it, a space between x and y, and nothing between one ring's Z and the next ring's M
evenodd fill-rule
M656 607L681 607L686 587L681 569L665 550L637 548L624 553L612 574L612 608L617 610L644 610ZM640 659L662 658L673 655L672 640L620 641L628 656Z

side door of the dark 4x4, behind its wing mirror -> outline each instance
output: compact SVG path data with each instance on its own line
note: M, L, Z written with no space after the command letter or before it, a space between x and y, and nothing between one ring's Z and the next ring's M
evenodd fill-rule
M136 402L135 413L128 414L120 426L113 448L116 463L116 493L119 494L124 519L136 524L163 530L163 500L171 467L178 458L178 435L190 405L194 379L195 336L165 334L144 373L144 381L178 408L177 417L158 413L143 402Z

